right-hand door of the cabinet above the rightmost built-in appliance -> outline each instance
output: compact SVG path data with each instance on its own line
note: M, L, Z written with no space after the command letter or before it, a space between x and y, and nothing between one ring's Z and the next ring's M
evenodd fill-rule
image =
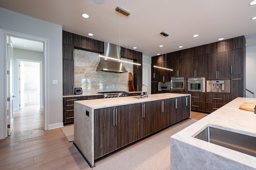
M228 78L231 75L230 51L218 53L218 79Z

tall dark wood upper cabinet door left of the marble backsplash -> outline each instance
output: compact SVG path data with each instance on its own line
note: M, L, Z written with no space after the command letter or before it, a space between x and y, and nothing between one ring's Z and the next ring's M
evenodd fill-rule
M63 95L74 94L74 60L62 59Z

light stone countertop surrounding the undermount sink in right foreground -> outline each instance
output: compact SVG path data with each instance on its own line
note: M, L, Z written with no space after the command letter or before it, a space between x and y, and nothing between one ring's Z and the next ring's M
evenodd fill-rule
M178 147L181 147L181 145L182 145L182 147L184 148L184 146L186 144L188 144L186 146L188 146L188 148L190 148L191 150L193 150L193 148L194 148L195 149L194 151L196 151L196 152L198 152L198 149L202 149L202 150L211 152L214 154L214 156L218 155L219 157L221 157L221 159L220 159L221 161L224 161L224 159L223 159L223 157L224 157L224 158L227 158L225 160L232 160L231 162L233 162L233 161L238 162L238 164L242 164L242 166L246 165L246 166L252 167L252 169L256 168L256 157L254 157L254 156L250 156L248 154L237 152L235 150L227 149L225 147L221 147L221 146L194 138L196 135L198 135L198 133L200 133L208 125L210 125L212 127L217 127L220 129L225 129L228 131L233 131L236 133L242 133L245 135L250 135L250 136L256 137L256 114L254 114L254 112L252 112L252 111L245 111L245 110L239 109L239 106L241 104L243 104L244 102L256 102L256 98L236 98L235 100L231 101L230 103L226 104L225 106L210 113L203 119L198 120L196 123L193 123L192 125L186 127L182 131L176 133L175 135L172 135L172 137L171 137L171 152L172 152L172 150L173 150L173 152L176 152L176 149ZM182 144L180 143L180 146L176 146L176 148L174 147L172 149L172 145L174 145L173 143L175 141L180 141ZM179 145L179 144L177 144L177 145ZM178 155L179 154L180 153L178 153ZM190 154L190 153L187 152L186 154ZM193 154L192 151L191 151L191 154ZM193 157L191 154L190 154L190 157ZM202 157L203 157L203 154L205 154L205 152L202 151L202 155L201 155ZM196 156L198 156L198 155L199 154L197 153ZM171 153L171 156L173 156L172 153ZM195 162L195 160L199 160L199 157L200 156L198 156L198 159L192 158L193 160L186 159L186 161L188 161L188 164L191 164L192 161ZM220 165L220 163L217 162L218 158L216 160L214 160L214 159L207 160L206 157L202 158L202 159L205 159L204 163L202 162L202 164L205 164L206 162L207 163L210 162L209 164L211 164L211 165L214 165L214 163ZM174 159L173 159L173 161L174 161ZM175 161L176 161L176 159L175 159ZM183 164L186 164L186 161L183 162ZM212 162L214 162L214 163L212 163ZM223 162L221 162L221 163L223 163ZM171 161L171 164L172 164L172 161ZM176 163L174 163L174 164L176 164ZM200 164L200 162L197 162L197 164ZM230 166L232 166L232 164L230 163ZM241 166L241 165L239 165L239 166ZM239 166L237 166L235 169L237 169ZM184 167L182 167L182 168L184 168ZM202 168L202 166L201 166L201 168ZM211 166L211 168L215 168L215 167ZM217 166L216 166L216 168L217 168Z

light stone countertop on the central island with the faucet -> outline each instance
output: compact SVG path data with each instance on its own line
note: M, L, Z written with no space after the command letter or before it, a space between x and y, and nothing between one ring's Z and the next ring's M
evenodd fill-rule
M97 100L79 100L76 102L93 109L101 109L105 107L136 104L136 103L150 102L154 100L163 100L163 99L176 98L176 97L182 97L182 96L190 96L190 94L161 93L161 94L150 94L148 98L144 97L142 99L140 99L140 96L127 96L127 97L120 97L120 98L104 98L104 99L97 99Z

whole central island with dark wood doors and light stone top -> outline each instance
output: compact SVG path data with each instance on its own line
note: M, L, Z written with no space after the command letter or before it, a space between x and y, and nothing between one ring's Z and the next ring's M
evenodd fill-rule
M74 102L74 145L97 161L190 118L190 94L162 93Z

